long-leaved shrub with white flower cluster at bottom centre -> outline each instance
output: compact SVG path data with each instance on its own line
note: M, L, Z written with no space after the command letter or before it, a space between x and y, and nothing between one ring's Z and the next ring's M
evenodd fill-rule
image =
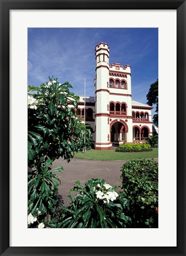
M46 225L55 228L126 228L131 219L127 216L129 202L122 193L116 193L105 180L92 179L81 184L74 183L71 191L76 191L74 200L71 195L70 206L61 207L63 220L53 219Z

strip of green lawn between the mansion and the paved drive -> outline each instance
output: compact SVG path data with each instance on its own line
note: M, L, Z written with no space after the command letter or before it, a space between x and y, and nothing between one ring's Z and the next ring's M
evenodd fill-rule
M101 160L101 161L112 161L112 160L132 160L140 158L158 158L158 148L153 148L150 152L116 152L115 150L99 151L91 149L86 153L79 152L75 154L75 158L87 159L87 160Z

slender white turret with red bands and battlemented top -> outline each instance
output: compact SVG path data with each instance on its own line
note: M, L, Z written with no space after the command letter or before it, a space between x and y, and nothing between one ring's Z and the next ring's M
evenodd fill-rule
M95 143L94 148L112 148L109 124L109 46L99 43L95 49Z

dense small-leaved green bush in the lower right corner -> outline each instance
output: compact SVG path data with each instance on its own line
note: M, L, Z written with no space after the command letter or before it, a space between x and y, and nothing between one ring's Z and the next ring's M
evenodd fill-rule
M121 168L122 190L129 200L132 228L158 228L158 162L132 160Z

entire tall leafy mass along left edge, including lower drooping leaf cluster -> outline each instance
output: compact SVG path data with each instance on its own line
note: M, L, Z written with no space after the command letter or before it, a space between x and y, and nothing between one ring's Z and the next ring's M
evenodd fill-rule
M61 172L63 168L51 169L53 161L62 157L69 162L75 152L83 150L84 136L86 145L91 143L90 130L76 117L79 97L74 95L70 88L73 87L68 82L60 84L53 78L50 78L48 83L41 84L41 87L28 87L30 216L35 217L39 209L43 218L48 217L58 204L60 180L54 172ZM70 105L73 108L70 108ZM43 223L44 219L41 221Z

